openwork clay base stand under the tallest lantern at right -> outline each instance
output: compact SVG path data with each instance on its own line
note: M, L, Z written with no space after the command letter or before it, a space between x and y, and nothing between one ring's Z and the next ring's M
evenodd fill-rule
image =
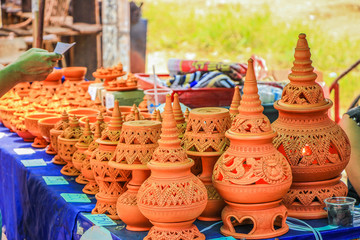
M289 216L299 219L326 218L324 200L334 196L346 196L348 189L341 176L316 182L293 182L284 203Z

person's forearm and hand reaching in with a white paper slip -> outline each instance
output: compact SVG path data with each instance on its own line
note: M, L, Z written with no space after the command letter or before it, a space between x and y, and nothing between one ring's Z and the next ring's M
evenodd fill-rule
M43 81L62 56L32 48L0 70L0 97L20 82Z

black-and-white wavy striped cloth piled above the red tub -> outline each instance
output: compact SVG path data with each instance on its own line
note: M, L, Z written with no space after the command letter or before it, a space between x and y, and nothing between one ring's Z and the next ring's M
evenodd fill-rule
M185 75L175 75L166 82L174 89L188 88L233 88L235 83L224 73L219 71L195 72Z

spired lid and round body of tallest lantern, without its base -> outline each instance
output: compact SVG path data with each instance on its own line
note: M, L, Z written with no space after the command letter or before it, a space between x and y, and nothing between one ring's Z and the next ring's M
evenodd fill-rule
M274 103L279 118L272 124L278 132L273 142L288 159L295 182L335 178L350 159L349 140L328 116L332 102L315 82L310 56L306 35L300 34L290 83ZM304 155L306 145L310 151Z

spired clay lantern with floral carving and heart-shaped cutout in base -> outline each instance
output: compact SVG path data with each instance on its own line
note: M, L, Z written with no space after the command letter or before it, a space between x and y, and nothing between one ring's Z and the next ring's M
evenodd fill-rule
M230 146L213 172L213 184L227 204L220 232L234 238L273 238L289 230L282 197L292 183L291 168L272 144L276 132L263 114L252 59L243 89L239 114L226 132ZM239 225L250 225L250 232Z

